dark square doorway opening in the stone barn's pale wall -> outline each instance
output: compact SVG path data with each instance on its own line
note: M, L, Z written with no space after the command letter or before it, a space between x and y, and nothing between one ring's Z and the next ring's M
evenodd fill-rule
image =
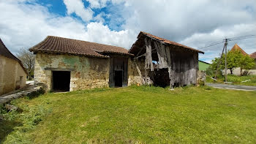
M53 71L53 91L69 91L69 85L69 71Z

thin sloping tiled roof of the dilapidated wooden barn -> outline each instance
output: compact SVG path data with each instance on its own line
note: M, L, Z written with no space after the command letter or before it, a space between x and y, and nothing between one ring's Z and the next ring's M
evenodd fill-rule
M168 40L168 39L163 39L163 38L161 38L161 37L154 36L153 34L149 34L149 33L144 32L144 31L140 31L140 34L138 34L138 39L140 38L141 35L145 35L146 37L151 37L152 39L156 39L156 40L158 40L158 41L160 41L160 42L164 42L164 43L167 44L167 45L176 45L176 46L179 46L179 47L181 47L181 48L186 48L187 50L195 51L195 52L197 52L197 53L203 53L203 51L196 50L195 48L190 48L190 47L188 47L188 46L186 46L186 45L181 45L181 44L179 44L179 43L177 43L177 42L173 42L173 41L170 41L170 40ZM133 48L136 48L136 47L132 47L132 48L129 50L129 52L131 52Z

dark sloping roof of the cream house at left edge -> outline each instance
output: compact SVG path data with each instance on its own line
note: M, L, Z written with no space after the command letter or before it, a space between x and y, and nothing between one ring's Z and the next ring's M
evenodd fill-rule
M4 57L7 57L7 58L11 58L11 59L13 59L15 61L18 61L18 63L20 64L20 67L22 67L24 72L26 72L26 69L25 69L25 67L23 67L22 62L18 58L16 58L16 56L14 56L10 52L10 50L8 50L8 48L4 45L4 42L1 41L1 38L0 38L0 55L4 56ZM26 72L26 75L28 75L28 72Z

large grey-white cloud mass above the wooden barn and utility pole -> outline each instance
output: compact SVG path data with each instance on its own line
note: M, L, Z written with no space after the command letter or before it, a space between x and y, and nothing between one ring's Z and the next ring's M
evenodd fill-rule
M143 7L142 7L143 6ZM255 34L256 4L240 1L127 1L122 7L123 29L148 31L159 37L200 48L225 37ZM209 42L210 41L210 42ZM256 50L256 39L236 41L247 53ZM232 47L235 42L228 45ZM206 61L219 56L223 45L204 49Z

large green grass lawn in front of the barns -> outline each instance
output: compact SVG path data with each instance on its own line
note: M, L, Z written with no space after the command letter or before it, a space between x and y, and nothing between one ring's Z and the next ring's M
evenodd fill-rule
M2 143L256 143L256 92L131 86L16 99Z

